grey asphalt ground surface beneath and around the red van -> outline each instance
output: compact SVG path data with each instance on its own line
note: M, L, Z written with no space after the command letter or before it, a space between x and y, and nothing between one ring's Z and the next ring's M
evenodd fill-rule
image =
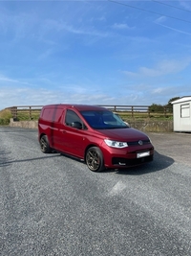
M148 135L152 163L96 174L0 128L0 255L190 256L191 134Z

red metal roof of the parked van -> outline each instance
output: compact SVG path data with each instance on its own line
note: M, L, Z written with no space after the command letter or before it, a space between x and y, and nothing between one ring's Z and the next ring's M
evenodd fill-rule
M99 106L99 105L72 105L72 104L55 104L55 105L44 105L43 108L47 107L61 107L61 108L74 108L77 109L78 111L83 111L83 110L105 110L107 109L106 107ZM109 110L109 109L107 109Z

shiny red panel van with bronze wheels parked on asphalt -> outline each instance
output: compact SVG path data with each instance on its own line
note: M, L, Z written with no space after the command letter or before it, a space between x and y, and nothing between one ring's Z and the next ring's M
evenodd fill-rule
M83 160L93 172L153 160L149 137L96 105L45 105L38 120L41 151L59 151Z

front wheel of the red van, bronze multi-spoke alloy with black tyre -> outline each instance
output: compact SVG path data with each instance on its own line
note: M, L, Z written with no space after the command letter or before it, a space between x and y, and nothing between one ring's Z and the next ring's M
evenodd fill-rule
M103 154L97 147L92 147L86 152L86 164L92 172L101 172L105 169Z

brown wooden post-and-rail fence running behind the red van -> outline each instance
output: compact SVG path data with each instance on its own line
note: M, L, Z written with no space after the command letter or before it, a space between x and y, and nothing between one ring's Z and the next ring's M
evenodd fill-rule
M163 108L160 112L149 111L149 105L99 105L119 113L126 118L172 117L172 108ZM18 105L7 107L15 120L37 120L43 105Z

